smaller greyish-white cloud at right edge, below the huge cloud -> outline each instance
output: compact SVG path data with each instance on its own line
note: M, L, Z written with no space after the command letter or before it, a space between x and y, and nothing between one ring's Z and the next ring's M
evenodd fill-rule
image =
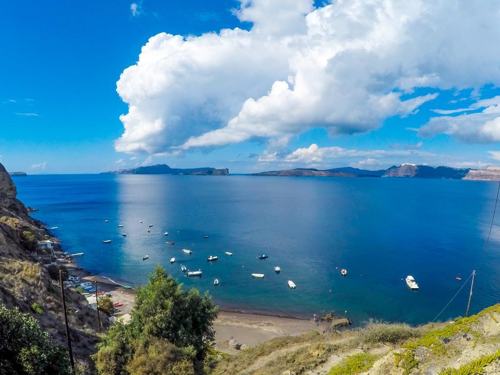
M469 143L500 141L500 96L477 100L464 110L480 112L432 117L418 129L421 136L444 133Z

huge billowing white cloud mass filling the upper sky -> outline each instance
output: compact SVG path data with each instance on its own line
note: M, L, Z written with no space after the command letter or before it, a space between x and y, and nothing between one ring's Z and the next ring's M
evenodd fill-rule
M500 82L495 2L242 0L250 31L157 34L126 68L115 149L156 154L324 127L366 132L436 97ZM304 15L305 14L305 15ZM481 58L477 58L481 56ZM433 91L433 90L429 90ZM492 130L490 130L492 131Z

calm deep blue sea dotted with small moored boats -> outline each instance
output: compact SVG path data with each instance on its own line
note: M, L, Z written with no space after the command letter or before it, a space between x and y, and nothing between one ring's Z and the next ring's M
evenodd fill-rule
M14 178L18 197L39 208L33 216L58 226L54 233L63 249L84 252L81 266L128 284L144 283L160 263L184 285L209 290L222 306L297 316L347 310L355 323L368 317L415 324L432 320L473 268L472 312L500 298L496 225L477 268L494 182L237 175ZM259 253L269 258L258 260ZM144 254L149 259L142 261ZM210 254L219 260L207 262ZM170 264L172 256L176 261ZM203 276L183 277L180 264L201 268ZM341 267L348 270L345 278ZM265 277L254 279L253 272ZM415 277L418 291L407 289L407 274ZM458 275L462 281L455 280ZM212 284L215 277L218 286ZM288 279L296 289L289 289ZM467 297L468 285L440 319L463 315Z

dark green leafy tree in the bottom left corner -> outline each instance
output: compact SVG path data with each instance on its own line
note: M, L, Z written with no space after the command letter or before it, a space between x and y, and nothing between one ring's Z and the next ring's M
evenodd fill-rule
M0 374L70 374L66 349L54 344L38 321L0 304Z

